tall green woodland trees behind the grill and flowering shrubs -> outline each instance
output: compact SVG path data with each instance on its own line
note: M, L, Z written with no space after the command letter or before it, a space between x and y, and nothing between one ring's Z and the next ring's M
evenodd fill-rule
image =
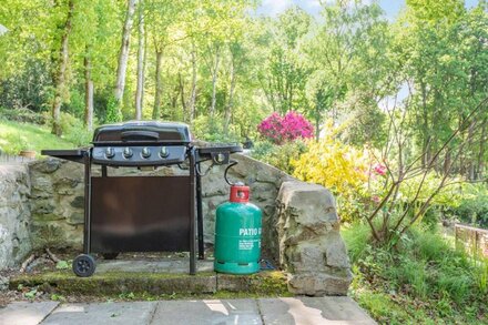
M486 2L407 1L395 21L360 1L324 1L258 17L254 1L8 0L0 23L0 105L93 123L163 119L196 135L256 138L271 111L297 111L319 134L350 121L348 143L382 145L386 111L406 112L411 150L428 164L469 124L454 171L485 174Z

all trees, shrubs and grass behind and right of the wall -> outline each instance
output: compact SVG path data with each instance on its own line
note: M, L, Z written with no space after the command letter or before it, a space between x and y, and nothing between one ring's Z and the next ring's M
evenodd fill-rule
M3 1L0 148L84 145L141 119L251 140L335 194L350 294L378 322L486 324L488 248L438 225L488 227L487 1L406 0L396 19L318 2L264 17L253 0Z

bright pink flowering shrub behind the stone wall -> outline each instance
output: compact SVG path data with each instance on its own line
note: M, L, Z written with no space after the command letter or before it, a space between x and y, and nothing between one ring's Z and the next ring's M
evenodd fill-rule
M285 116L274 112L257 125L260 134L276 143L283 144L297 138L313 138L314 126L302 114L289 111Z

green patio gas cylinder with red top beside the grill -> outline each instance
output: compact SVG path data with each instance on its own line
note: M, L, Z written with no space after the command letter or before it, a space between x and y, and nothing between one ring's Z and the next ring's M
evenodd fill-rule
M217 206L214 270L251 274L260 271L262 212L250 203L250 187L231 186L231 200Z

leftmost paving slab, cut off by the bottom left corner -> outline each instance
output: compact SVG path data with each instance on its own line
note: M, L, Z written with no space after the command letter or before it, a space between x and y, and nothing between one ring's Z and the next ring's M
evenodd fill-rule
M57 302L16 302L0 308L0 325L37 325L51 313Z

